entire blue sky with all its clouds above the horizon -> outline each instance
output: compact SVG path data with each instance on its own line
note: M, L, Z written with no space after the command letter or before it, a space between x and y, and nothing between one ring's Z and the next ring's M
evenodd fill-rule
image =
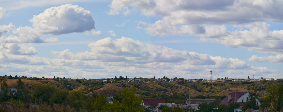
M282 0L0 0L0 75L283 77Z

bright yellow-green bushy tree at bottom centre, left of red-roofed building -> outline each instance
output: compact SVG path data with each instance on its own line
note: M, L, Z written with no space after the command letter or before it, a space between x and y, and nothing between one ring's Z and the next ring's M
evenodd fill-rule
M113 101L113 108L115 111L123 112L141 112L143 111L143 106L141 97L136 97L135 94L137 89L135 86L130 87L130 90L126 87L123 87L122 91L118 91L119 96L122 98L121 102L118 100Z

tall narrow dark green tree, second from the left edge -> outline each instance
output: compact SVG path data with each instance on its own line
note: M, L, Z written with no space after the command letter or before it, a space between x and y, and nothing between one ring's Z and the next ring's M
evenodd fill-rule
M29 91L26 89L25 87L25 83L23 83L23 81L21 79L18 79L17 85L16 85L16 90L17 91L13 91L15 94L15 99L21 100L24 103L27 102L27 98L28 98L28 94Z

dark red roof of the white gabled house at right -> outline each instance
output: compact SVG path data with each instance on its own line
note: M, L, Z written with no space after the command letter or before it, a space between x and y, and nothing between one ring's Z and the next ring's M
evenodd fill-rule
M229 103L231 102L235 102L235 94L237 94L237 99L236 101L241 97L243 96L244 94L246 94L248 91L244 91L244 92L232 92L231 94L228 94L228 95L231 95L231 100L228 102L228 96L226 96L220 103L220 105L224 104L226 106L229 105ZM245 102L241 102L239 103L240 105L243 105Z

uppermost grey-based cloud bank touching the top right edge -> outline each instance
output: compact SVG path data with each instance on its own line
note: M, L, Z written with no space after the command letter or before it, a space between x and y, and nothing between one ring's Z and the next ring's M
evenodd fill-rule
M206 23L246 23L280 21L283 16L280 0L113 0L108 14L124 15L141 11L146 16L159 16L172 25Z

